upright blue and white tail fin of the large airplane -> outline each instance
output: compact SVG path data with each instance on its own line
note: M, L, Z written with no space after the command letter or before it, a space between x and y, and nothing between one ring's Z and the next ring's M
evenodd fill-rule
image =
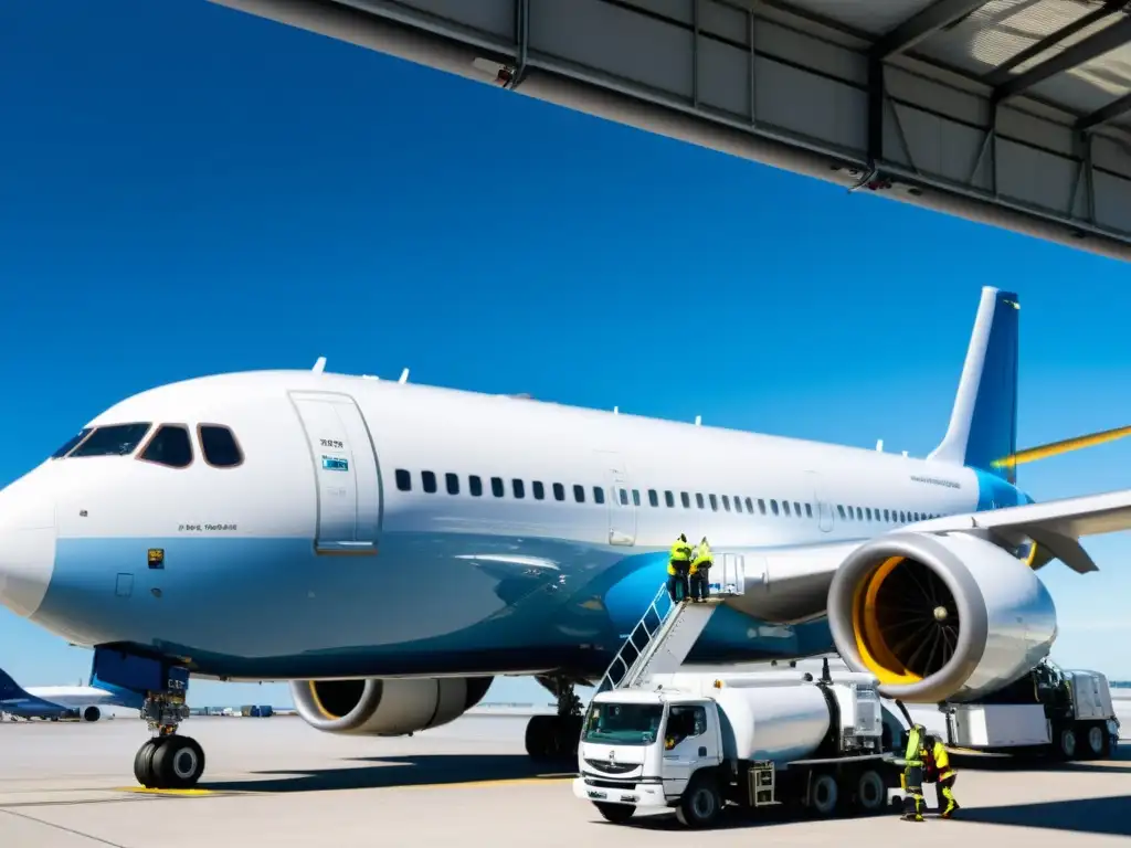
M1002 457L1017 452L1018 303L1012 292L986 286L966 352L950 427L930 459L1017 482Z

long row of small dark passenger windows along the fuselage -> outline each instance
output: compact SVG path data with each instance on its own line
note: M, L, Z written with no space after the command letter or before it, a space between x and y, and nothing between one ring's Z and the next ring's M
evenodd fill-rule
M421 488L428 494L434 494L440 491L439 478L434 471L421 471ZM397 490L400 492L412 492L413 491L413 475L404 468L398 468L396 471ZM508 485L502 477L491 477L490 478L491 494L495 497L507 496ZM510 481L510 495L516 499L526 497L526 486L527 482L518 477L511 478ZM443 488L450 495L458 495L460 492L460 477L458 474L452 474L448 471L443 475ZM587 491L593 493L594 503L605 502L605 490L602 486L584 486L581 484L575 483L570 486L572 490L573 502L585 503ZM562 483L551 483L550 491L553 492L553 497L555 501L566 500L566 485ZM630 499L631 503L636 507L640 507L640 490L633 488L615 488L614 497L616 497L620 503L624 507L629 505ZM483 495L483 478L478 475L470 475L467 478L467 492L473 497L480 497ZM530 482L530 494L534 500L543 501L546 497L546 487L542 481ZM777 499L751 499L742 495L714 495L714 494L702 494L700 492L673 492L666 490L659 492L655 488L647 490L648 505L659 507L661 500L665 507L674 509L676 503L679 503L683 509L692 509L692 503L694 503L696 509L707 509L708 505L714 512L718 512L719 504L722 504L724 512L746 512L754 514L766 516L786 516L793 518L813 518L813 504L804 503L802 501L778 501ZM934 514L927 514L925 512L909 512L906 510L892 510L892 509L880 509L879 507L847 507L844 504L837 504L837 513L840 516L843 521L886 521L888 523L909 523L912 521L922 521L927 518L936 518Z

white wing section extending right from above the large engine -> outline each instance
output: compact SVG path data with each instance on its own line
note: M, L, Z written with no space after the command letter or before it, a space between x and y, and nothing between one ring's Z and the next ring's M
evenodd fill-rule
M991 534L1013 544L1029 539L1044 548L1038 557L1034 550L1034 568L1056 559L1082 574L1099 569L1080 545L1080 537L1131 530L1131 490L944 516L908 529Z

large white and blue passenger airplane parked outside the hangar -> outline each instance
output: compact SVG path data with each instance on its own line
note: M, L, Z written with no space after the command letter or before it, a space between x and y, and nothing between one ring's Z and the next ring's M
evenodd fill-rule
M325 358L161 386L0 491L0 602L93 648L92 685L144 699L135 777L154 788L205 769L176 733L190 676L287 681L312 727L370 736L533 675L559 715L532 718L527 752L568 754L575 686L601 678L681 533L741 554L754 587L689 665L836 651L887 698L974 700L1048 654L1037 570L1096 570L1080 537L1131 527L1131 491L1035 503L1016 485L1026 461L1123 432L1017 450L1018 326L1017 294L984 288L925 459ZM930 657L893 638L920 614Z

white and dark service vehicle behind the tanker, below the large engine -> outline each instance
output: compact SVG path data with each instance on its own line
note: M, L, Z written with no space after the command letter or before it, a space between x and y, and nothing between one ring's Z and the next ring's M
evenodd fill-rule
M909 712L949 745L984 753L1105 759L1120 739L1107 678L1099 672L1062 670L1048 660L986 700L910 707Z

